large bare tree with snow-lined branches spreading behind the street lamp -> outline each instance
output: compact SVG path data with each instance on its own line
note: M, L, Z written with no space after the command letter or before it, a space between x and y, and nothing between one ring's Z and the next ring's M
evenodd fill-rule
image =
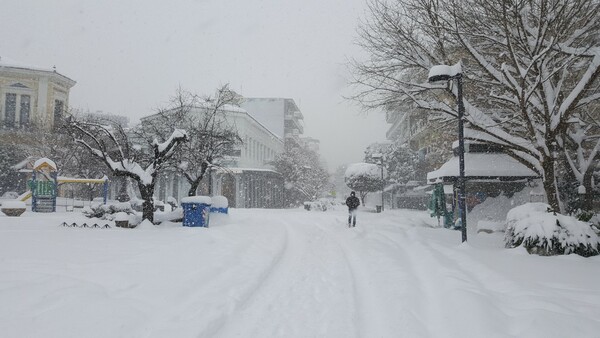
M559 210L557 152L565 151L573 118L600 100L599 6L589 0L372 0L359 29L370 59L354 62L361 88L354 98L368 108L419 107L455 117L456 88L435 97L441 92L431 89L440 86L424 82L433 65L462 61L465 119L475 131L467 137L501 145L538 172L549 204ZM586 145L592 151L579 162L581 172L593 170L595 144Z

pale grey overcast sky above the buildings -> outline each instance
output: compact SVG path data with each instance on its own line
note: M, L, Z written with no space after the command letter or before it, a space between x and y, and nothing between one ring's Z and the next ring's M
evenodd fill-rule
M221 84L246 97L286 97L321 141L330 169L362 161L384 141L380 113L349 93L347 59L365 0L5 1L0 56L52 67L77 84L70 104L132 121L178 86L210 94Z

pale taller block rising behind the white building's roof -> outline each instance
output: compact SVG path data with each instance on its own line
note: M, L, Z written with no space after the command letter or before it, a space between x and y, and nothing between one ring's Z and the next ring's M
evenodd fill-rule
M293 99L245 98L240 106L283 139L286 148L302 145L304 116Z

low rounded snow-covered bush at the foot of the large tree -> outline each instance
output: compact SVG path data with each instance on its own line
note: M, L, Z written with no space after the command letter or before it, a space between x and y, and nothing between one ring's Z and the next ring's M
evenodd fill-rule
M506 247L523 245L529 253L543 256L598 255L600 239L596 227L548 210L550 206L546 203L528 203L511 209L506 216Z

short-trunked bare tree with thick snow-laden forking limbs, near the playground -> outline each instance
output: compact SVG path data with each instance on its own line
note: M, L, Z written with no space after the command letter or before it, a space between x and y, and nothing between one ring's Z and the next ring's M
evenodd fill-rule
M175 129L163 141L155 138L140 144L143 140L135 139L120 125L107 126L71 118L65 128L75 142L102 160L114 176L129 177L137 183L144 200L143 218L153 222L156 177L177 148L187 140L185 130Z

